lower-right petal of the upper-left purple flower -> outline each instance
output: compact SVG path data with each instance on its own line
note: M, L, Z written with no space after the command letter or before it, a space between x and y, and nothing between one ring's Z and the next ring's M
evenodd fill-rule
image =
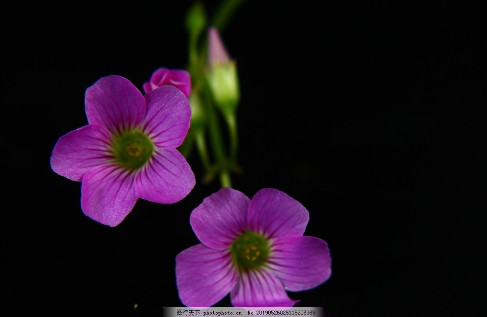
M161 204L180 201L195 183L195 174L176 149L156 150L135 178L137 196Z

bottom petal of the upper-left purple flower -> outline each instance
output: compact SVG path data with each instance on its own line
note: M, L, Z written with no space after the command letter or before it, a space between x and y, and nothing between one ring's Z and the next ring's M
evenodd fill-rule
M81 208L93 220L115 227L137 202L134 175L111 164L85 174L81 186Z

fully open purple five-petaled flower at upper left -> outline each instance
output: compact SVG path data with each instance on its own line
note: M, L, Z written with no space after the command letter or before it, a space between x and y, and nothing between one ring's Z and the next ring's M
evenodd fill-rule
M189 129L188 99L170 85L145 96L127 79L108 76L86 89L88 125L61 136L51 156L59 175L83 182L81 208L115 227L138 198L171 204L195 185L175 149Z

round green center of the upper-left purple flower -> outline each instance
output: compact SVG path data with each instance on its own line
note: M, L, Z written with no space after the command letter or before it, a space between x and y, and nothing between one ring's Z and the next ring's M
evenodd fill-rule
M152 156L154 144L139 130L128 130L114 135L112 152L115 162L129 169L141 168Z

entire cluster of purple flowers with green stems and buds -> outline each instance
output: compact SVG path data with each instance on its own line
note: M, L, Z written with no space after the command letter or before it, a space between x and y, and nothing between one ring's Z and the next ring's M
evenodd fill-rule
M88 124L57 140L51 167L82 182L81 209L88 217L115 227L139 198L172 204L190 193L196 179L183 150L194 142L204 179L218 175L222 189L191 213L201 243L176 256L181 302L209 307L230 294L236 307L292 307L298 300L287 291L313 289L330 277L328 245L304 236L309 212L284 192L261 189L250 199L231 188L229 174L240 170L236 63L216 27L208 28L207 53L197 50L206 18L199 5L188 16L190 71L155 70L143 83L145 94L120 76L96 81L86 89ZM221 135L220 119L228 137Z

